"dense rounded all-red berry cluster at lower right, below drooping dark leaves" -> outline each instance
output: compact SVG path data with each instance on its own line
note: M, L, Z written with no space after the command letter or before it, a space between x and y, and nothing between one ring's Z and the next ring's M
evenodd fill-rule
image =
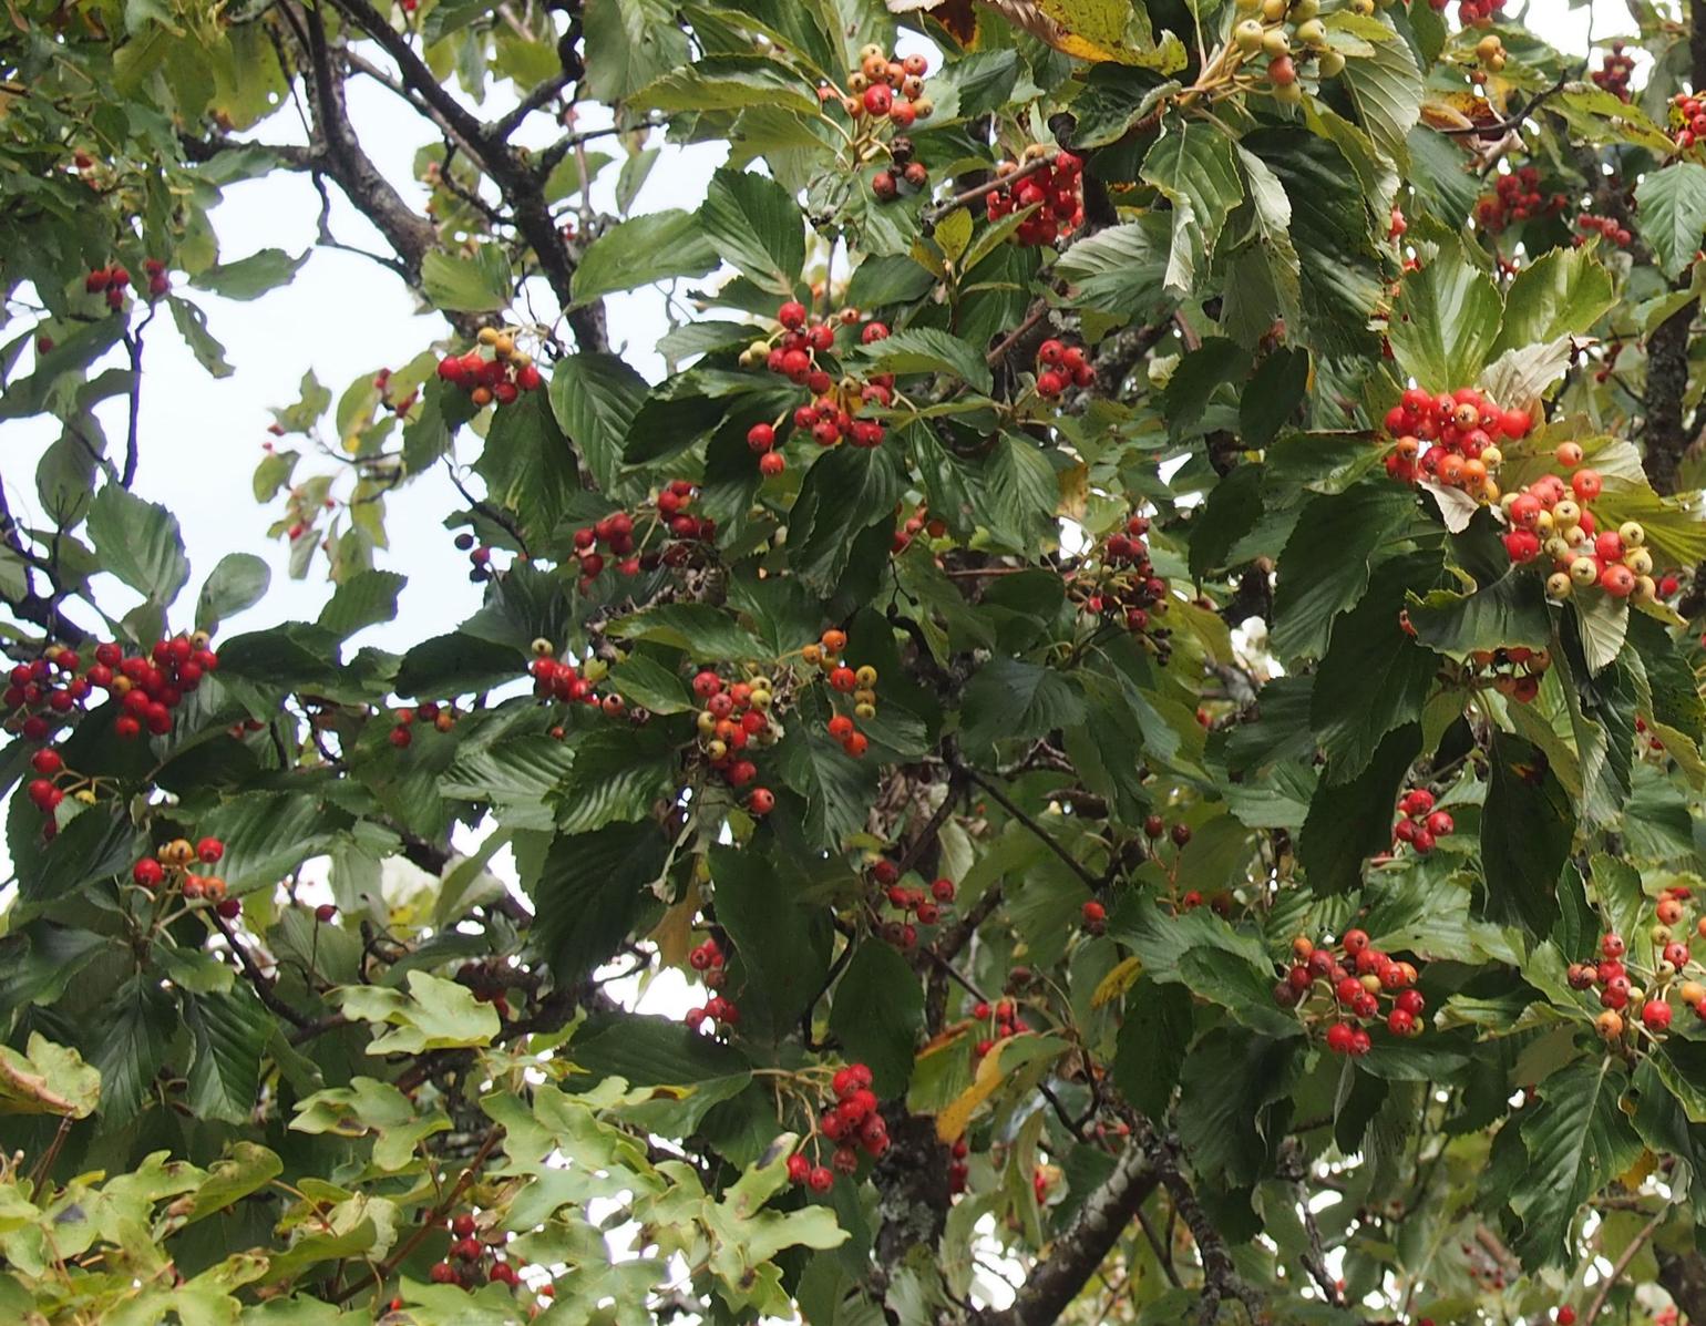
M1298 935L1274 1003L1326 1022L1334 1055L1361 1056L1373 1048L1367 1022L1384 1021L1394 1036L1421 1036L1426 1002L1414 985L1416 968L1370 945L1363 930L1346 930L1338 947Z

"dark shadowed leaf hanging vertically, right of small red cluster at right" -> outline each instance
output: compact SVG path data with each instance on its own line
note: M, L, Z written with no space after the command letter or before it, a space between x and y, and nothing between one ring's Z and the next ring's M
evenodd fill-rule
M1491 778L1481 811L1481 870L1488 916L1544 935L1558 918L1558 874L1570 858L1576 816L1539 747L1493 732Z

